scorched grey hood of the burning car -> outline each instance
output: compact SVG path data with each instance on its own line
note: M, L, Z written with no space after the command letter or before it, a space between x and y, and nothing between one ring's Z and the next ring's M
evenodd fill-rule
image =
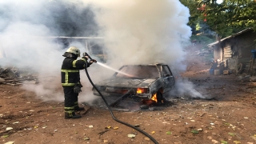
M111 87L148 87L157 78L143 78L143 79L128 79L128 78L110 78L98 82L97 86L111 86Z

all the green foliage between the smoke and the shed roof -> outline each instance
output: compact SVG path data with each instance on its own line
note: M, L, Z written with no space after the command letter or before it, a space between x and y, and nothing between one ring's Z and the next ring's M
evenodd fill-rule
M190 9L193 34L212 30L220 38L246 28L256 30L256 1L254 0L180 0ZM209 34L209 33L208 33Z

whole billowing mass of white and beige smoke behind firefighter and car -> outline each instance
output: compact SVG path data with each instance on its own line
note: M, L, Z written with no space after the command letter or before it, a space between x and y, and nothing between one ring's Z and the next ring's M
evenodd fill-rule
M65 3L68 9L78 10L78 14L79 10L90 6L98 30L98 35L94 33L94 36L104 37L104 48L109 58L107 65L114 69L123 64L165 62L172 70L185 70L182 61L186 53L182 44L188 42L191 35L190 26L187 26L190 14L178 0L1 0L0 6L8 13L0 15L0 44L7 57L0 58L0 66L11 63L37 71L42 77L40 84L24 85L24 88L34 90L41 98L63 100L60 69L66 49L62 49L63 46L59 46L53 38L46 37L66 36L60 35L66 34L66 31L51 26L55 22L55 14L46 9L50 6L49 2ZM72 19L74 15L68 14L66 17ZM85 16L81 14L81 17ZM74 25L77 22L74 21ZM85 26L95 30L92 25ZM86 31L81 33L90 34ZM71 42L70 46L78 46L84 52L86 47L83 42ZM94 82L114 74L97 64L88 70ZM53 79L46 81L43 79L46 76L53 76ZM93 98L91 86L83 71L81 77L85 89L80 99L88 101Z

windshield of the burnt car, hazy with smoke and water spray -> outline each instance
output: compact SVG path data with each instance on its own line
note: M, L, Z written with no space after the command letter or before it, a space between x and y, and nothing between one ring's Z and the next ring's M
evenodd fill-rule
M123 66L116 75L118 78L157 78L157 66Z

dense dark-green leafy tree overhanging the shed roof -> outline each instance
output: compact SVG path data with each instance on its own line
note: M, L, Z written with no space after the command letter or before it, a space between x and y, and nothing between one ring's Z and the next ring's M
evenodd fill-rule
M198 1L198 6L206 24L220 37L249 27L256 30L254 0L224 0L221 4L218 4L217 0L201 0Z

